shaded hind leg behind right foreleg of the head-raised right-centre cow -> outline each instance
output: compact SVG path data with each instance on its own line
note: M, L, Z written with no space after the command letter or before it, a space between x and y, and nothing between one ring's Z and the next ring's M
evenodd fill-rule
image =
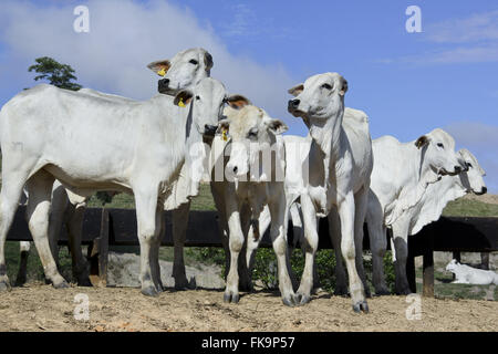
M356 271L363 282L363 289L367 298L371 296L369 284L366 283L365 269L363 267L363 225L365 223L366 206L369 201L369 188L363 187L354 196L354 247L356 250Z

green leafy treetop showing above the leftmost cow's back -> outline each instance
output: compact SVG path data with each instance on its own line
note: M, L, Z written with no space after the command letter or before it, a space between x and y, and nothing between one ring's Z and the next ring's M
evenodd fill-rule
M71 65L61 64L49 56L37 58L34 61L37 64L31 65L28 71L34 71L40 74L34 77L35 81L48 80L50 84L54 86L72 91L77 91L82 87L81 85L71 82L72 80L77 80L77 77L73 75L75 71Z

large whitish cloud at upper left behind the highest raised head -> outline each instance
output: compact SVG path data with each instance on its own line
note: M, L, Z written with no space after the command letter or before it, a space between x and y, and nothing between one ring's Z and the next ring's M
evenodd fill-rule
M33 85L25 71L39 56L52 56L76 70L86 87L135 98L156 93L156 80L146 64L201 46L214 56L212 76L227 90L248 96L270 114L287 112L286 90L294 81L279 65L263 66L250 58L231 54L209 27L203 28L188 9L167 1L91 0L90 33L73 31L76 4L2 1L0 75L12 75L22 87ZM2 83L3 85L4 83Z

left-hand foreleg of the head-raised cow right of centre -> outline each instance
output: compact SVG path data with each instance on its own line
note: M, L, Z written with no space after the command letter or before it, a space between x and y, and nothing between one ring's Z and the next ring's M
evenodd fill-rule
M301 210L304 222L304 239L302 246L305 251L304 269L302 272L301 283L299 285L297 295L301 299L301 304L311 300L311 290L313 288L313 268L314 254L318 249L318 230L317 230L317 214L314 206L308 195L301 196Z

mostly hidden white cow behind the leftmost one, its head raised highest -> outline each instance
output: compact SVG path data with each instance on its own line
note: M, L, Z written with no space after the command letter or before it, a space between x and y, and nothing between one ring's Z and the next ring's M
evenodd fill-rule
M200 80L210 75L212 67L212 56L205 49L194 48L177 53L172 60L160 60L152 62L147 65L153 72L163 76L159 80L158 88L164 94L175 95L178 90L189 88L196 85ZM82 88L80 93L93 95L103 100L113 102L134 102L134 100L102 93L92 88ZM188 164L184 165L180 176L189 175L187 170ZM185 180L184 178L183 180ZM173 210L173 239L175 243L175 258L173 267L173 277L175 278L175 288L184 289L188 281L185 273L185 263L183 258L183 244L185 242L188 211L190 199L188 197L197 194L197 190L190 190L187 184L175 184L176 195L174 206L167 202L166 209ZM194 188L195 189L195 188ZM178 196L178 194L181 196ZM77 196L66 190L61 183L55 180L52 191L52 210L49 222L49 242L55 261L59 260L58 239L62 229L62 225L66 221L70 248L72 254L73 277L77 280L79 285L91 285L89 280L89 264L86 258L81 251L81 232L83 215L86 208L89 197ZM173 197L169 198L169 200ZM179 204L178 208L175 208ZM29 242L21 242L21 266L18 273L17 284L25 281L25 263L28 252L30 250Z

